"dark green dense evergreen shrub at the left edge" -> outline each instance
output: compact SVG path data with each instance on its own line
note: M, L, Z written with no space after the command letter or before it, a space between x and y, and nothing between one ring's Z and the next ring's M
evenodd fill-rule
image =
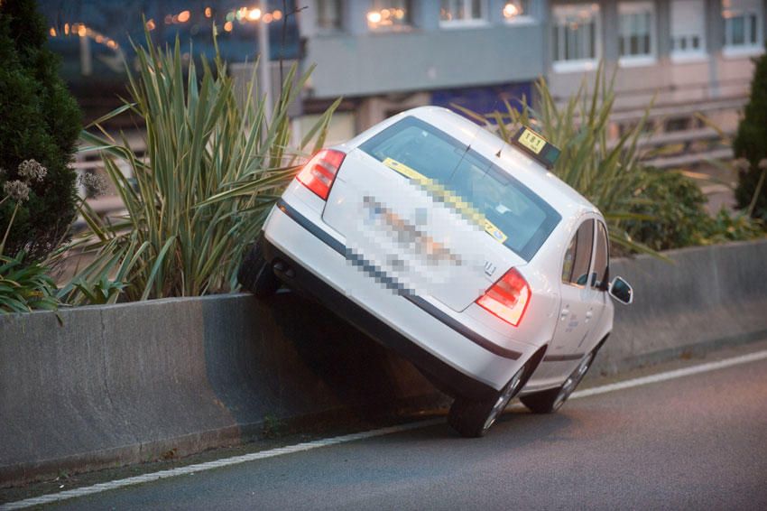
M14 216L5 254L41 260L67 236L75 215L75 173L68 168L80 130L75 100L45 45L47 31L33 0L0 2L0 187L20 179L18 166L35 159L48 169L30 183L29 200L15 211L0 206L0 232Z

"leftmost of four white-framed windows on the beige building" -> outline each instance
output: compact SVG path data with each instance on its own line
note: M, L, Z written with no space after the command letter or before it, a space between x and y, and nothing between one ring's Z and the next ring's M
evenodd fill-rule
M599 5L554 5L552 32L555 70L589 67L599 59Z

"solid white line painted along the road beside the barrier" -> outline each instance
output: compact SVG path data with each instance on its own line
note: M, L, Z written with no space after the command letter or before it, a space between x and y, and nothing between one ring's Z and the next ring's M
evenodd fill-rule
M698 366L684 367L682 369L676 369L673 371L667 371L665 373L658 373L651 376L643 376L641 378L634 378L623 382L609 384L605 386L596 386L593 388L587 388L574 392L570 396L570 399L578 399L581 397L588 397L591 395L600 395L608 392L615 392L616 390L624 390L626 388L632 388L635 386L645 386L653 383L664 382L683 376L697 375L699 373L706 373L708 371L715 371L716 369L723 369L725 367L738 366L748 362L754 362L767 358L767 350L757 351L734 358L725 358L724 360L718 360L716 362L707 362ZM513 406L513 408L520 407L519 404ZM295 445L288 445L277 449L271 449L269 451L252 452L250 454L244 454L242 456L235 456L233 458L225 458L223 460L208 461L206 463L198 463L196 465L188 465L186 467L179 467L177 469L162 470L160 472L152 472L151 474L143 474L141 476L134 476L133 478L117 479L115 481L109 481L106 483L99 483L97 485L69 489L60 493L52 493L49 495L43 495L41 497L32 497L17 502L10 502L0 506L0 511L5 509L22 509L24 507L42 506L44 504L51 504L53 502L60 502L69 498L84 497L86 495L93 495L108 491L110 489L125 488L129 486L139 485L150 481L156 481L164 478L175 478L178 476L187 476L197 472L205 470L219 469L221 467L231 467L232 465L239 465L240 463L247 463L248 461L264 460L266 458L274 458L276 456L282 456L284 454L292 454L293 452L311 451L313 449L319 449L320 447L328 447L329 445L336 445L338 443L347 443L349 441L364 440L366 438L373 438L376 436L384 436L396 432L406 432L409 430L416 430L433 426L435 424L444 423L443 419L431 419L429 421L420 421L418 423L400 424L396 426L390 426L388 428L380 428L377 430L371 430L368 432L358 432L347 435L341 435L333 438L326 438L315 441L306 441L303 443L297 443Z

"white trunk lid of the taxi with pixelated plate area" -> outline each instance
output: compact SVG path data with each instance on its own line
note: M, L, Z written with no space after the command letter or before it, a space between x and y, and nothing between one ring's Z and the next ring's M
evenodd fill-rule
M456 194L411 167L356 149L328 197L324 221L347 238L347 258L400 293L463 311L512 265L525 261L488 236Z

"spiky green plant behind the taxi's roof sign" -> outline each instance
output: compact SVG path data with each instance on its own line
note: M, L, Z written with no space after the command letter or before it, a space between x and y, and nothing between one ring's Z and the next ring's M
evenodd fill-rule
M651 106L636 125L611 142L609 127L615 104L614 79L608 78L604 66L600 65L592 89L587 88L584 80L578 92L563 106L557 105L546 80L541 78L535 84L537 107L533 107L528 98L523 99L520 110L504 100L505 111L488 116L454 107L485 123L506 141L511 140L520 126L532 126L559 147L561 153L553 172L602 211L610 225L611 242L629 251L659 255L634 240L624 225L629 219L646 219L633 209L647 203L642 191L652 179L640 163L637 144L644 134Z

